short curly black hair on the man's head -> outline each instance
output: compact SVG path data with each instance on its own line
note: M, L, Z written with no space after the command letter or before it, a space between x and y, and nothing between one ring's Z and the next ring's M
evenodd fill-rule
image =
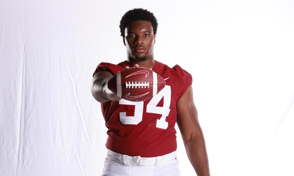
M121 36L125 36L125 29L129 23L139 20L150 21L153 27L153 33L154 35L156 34L158 23L154 14L146 9L138 8L127 11L121 18L119 25Z

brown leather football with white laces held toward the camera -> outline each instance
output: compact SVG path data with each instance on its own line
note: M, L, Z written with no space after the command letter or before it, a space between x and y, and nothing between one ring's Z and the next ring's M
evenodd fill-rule
M118 97L129 101L145 101L165 87L165 80L152 70L131 67L117 72L108 81L107 87Z

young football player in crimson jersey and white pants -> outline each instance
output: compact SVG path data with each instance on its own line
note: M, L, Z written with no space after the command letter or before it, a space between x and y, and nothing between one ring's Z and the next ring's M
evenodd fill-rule
M120 28L127 60L117 65L102 62L93 74L91 92L101 102L108 128L103 176L179 176L176 122L197 175L210 175L193 101L192 77L179 65L170 68L154 60L157 26L153 13L145 9L126 12ZM146 101L121 99L107 88L107 83L117 72L131 66L152 69L166 80L166 86ZM128 118L128 124L123 118Z

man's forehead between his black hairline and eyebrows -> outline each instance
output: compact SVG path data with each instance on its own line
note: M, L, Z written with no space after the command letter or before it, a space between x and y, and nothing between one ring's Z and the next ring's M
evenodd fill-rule
M151 33L153 33L153 27L150 21L133 21L129 23L125 28L125 33L136 33L143 31L150 31Z

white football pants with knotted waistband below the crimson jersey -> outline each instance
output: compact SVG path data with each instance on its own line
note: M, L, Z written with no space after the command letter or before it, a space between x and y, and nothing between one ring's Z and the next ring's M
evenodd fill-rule
M108 149L101 176L181 176L176 151L145 158L115 153Z

